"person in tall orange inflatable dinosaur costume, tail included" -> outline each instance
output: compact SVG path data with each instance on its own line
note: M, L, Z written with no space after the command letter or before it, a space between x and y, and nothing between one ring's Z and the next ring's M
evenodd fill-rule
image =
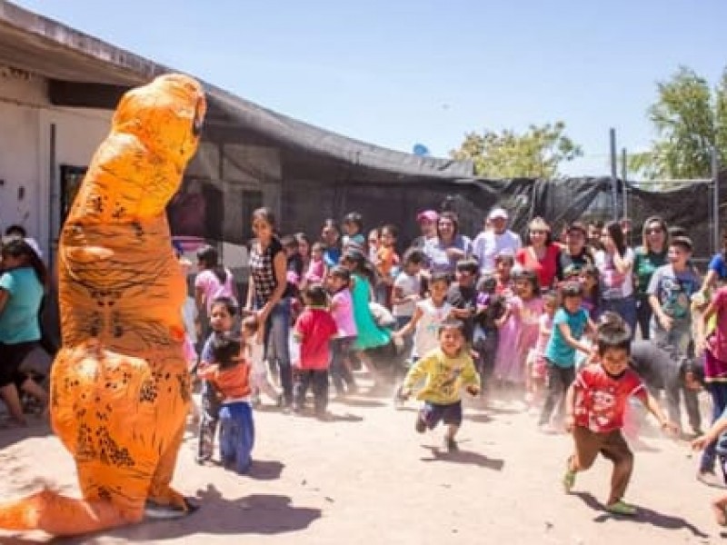
M189 512L170 482L190 401L186 284L164 208L205 113L194 79L166 74L124 94L61 233L63 348L51 374L53 428L83 499L42 490L0 504L0 529L76 535Z

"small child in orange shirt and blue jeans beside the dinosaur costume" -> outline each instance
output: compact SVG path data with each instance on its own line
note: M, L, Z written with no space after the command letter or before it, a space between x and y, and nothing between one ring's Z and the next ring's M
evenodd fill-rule
M211 363L203 362L197 375L212 382L223 398L220 407L220 457L225 467L240 474L253 463L253 411L250 407L250 364L241 356L242 342L230 333L213 341Z

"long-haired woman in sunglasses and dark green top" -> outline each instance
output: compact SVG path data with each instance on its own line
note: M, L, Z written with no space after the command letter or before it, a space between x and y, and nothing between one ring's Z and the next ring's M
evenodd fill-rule
M646 292L652 274L666 264L669 250L669 231L660 216L647 218L642 227L642 245L636 248L633 259L633 279L636 295L636 322L642 332L642 339L649 339L649 322L652 320L652 306Z

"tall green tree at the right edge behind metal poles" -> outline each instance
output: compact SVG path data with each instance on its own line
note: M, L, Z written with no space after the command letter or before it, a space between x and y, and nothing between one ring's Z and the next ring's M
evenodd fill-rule
M712 176L712 148L727 157L727 71L714 89L691 68L657 84L659 97L648 110L657 134L652 149L629 158L629 170L649 179Z

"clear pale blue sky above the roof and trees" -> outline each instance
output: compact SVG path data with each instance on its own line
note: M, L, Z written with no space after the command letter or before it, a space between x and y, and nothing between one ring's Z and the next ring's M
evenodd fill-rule
M447 156L469 132L562 120L610 173L648 148L656 84L680 65L715 84L724 0L20 0L254 103L365 142Z

